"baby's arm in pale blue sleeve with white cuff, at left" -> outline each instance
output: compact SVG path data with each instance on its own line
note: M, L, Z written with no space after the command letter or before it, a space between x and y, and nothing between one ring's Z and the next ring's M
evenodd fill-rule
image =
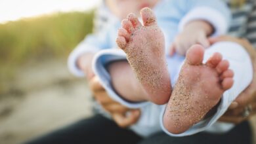
M106 6L100 5L99 9L96 10L94 20L94 32L93 34L87 35L83 41L77 45L68 57L68 68L70 72L77 77L92 77L91 72L87 67L91 68L91 61L93 55L104 49L110 48L109 43L109 20L111 15L106 10ZM86 58L87 57L87 58Z

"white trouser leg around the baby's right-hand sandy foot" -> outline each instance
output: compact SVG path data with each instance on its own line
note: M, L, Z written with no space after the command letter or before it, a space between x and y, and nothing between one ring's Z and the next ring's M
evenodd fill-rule
M232 42L216 43L215 45L205 50L203 62L205 63L213 55L214 52L220 52L223 55L223 59L228 60L230 63L230 69L234 71L234 84L232 88L224 92L221 98L221 103L217 108L215 115L213 115L211 118L200 121L198 124L195 124L182 134L171 134L164 128L163 109L160 122L161 128L167 134L172 136L184 136L196 134L205 130L215 132L215 130L211 129L210 127L213 126L215 122L217 122L217 120L224 114L226 109L228 109L232 101L237 98L237 96L250 84L251 80L253 79L253 66L251 64L251 59L249 54L247 54L242 46ZM230 130L232 127L232 125L226 125L226 127L224 126L223 132ZM216 132L221 132L221 130L217 129Z

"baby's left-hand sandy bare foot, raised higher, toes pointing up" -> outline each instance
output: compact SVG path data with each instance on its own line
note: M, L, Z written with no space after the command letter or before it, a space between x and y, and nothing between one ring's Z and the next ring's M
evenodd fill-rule
M118 30L117 45L127 54L137 79L148 94L145 100L167 103L171 81L165 62L165 40L149 8L140 10L143 26L135 14L129 14Z

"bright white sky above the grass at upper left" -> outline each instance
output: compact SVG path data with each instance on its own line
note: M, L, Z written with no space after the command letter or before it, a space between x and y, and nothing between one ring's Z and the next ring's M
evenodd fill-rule
M100 0L0 0L0 23L52 12L84 11Z

